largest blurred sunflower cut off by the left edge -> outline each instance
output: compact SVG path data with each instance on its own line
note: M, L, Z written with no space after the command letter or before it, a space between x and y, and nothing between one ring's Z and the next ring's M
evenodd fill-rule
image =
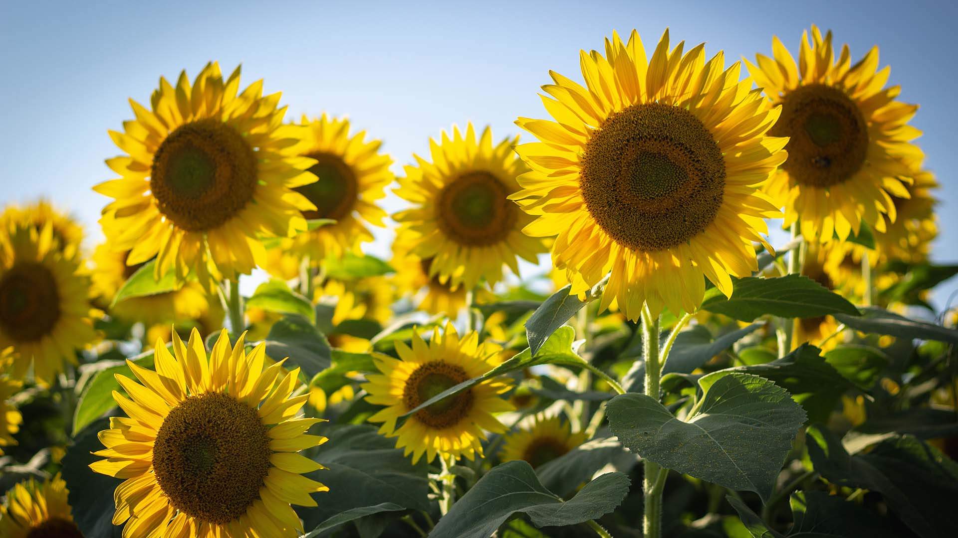
M34 365L34 378L49 385L63 363L93 342L89 280L80 261L55 249L53 225L11 224L0 230L0 348L13 347L13 377Z

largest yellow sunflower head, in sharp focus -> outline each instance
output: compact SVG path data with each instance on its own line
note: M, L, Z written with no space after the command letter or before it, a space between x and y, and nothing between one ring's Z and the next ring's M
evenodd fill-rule
M601 310L629 320L643 303L695 311L703 276L731 295L729 276L756 270L764 217L780 215L759 189L786 157L787 139L765 136L779 109L722 53L683 50L666 31L646 61L638 33L613 33L605 56L581 52L586 87L557 73L542 86L555 121L516 121L541 141L516 148L532 171L511 198L537 217L523 232L558 234L553 264L574 294L610 273Z

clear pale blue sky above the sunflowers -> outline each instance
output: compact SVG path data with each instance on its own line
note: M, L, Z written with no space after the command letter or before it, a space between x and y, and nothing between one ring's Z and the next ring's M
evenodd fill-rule
M536 93L547 71L581 80L579 50L601 49L613 29L638 29L650 50L669 27L673 42L705 41L709 56L724 49L735 60L770 54L773 34L795 51L814 23L849 43L854 59L878 44L901 99L922 105L913 124L943 186L934 258L955 262L956 18L947 1L2 0L0 203L47 196L99 238L107 199L90 187L112 177L103 159L120 153L106 130L132 118L127 98L148 104L159 76L186 69L193 78L209 60L226 73L242 63L243 85L264 78L266 92L282 91L289 118L349 115L384 140L400 173L452 123L489 123L498 139L517 133L517 116L545 117ZM955 290L958 282L947 282L935 302Z

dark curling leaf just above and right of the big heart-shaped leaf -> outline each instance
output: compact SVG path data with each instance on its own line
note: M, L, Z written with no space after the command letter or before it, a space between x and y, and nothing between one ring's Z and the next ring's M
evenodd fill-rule
M716 380L730 372L761 375L790 392L811 420L827 420L841 394L854 385L835 371L820 352L818 347L803 344L770 363L714 371L699 379L698 384L708 391Z

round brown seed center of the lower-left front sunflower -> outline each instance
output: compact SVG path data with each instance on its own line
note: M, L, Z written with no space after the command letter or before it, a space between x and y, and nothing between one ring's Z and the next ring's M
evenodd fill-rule
M271 454L257 411L209 392L183 400L163 420L153 469L170 504L201 521L224 524L259 499Z

